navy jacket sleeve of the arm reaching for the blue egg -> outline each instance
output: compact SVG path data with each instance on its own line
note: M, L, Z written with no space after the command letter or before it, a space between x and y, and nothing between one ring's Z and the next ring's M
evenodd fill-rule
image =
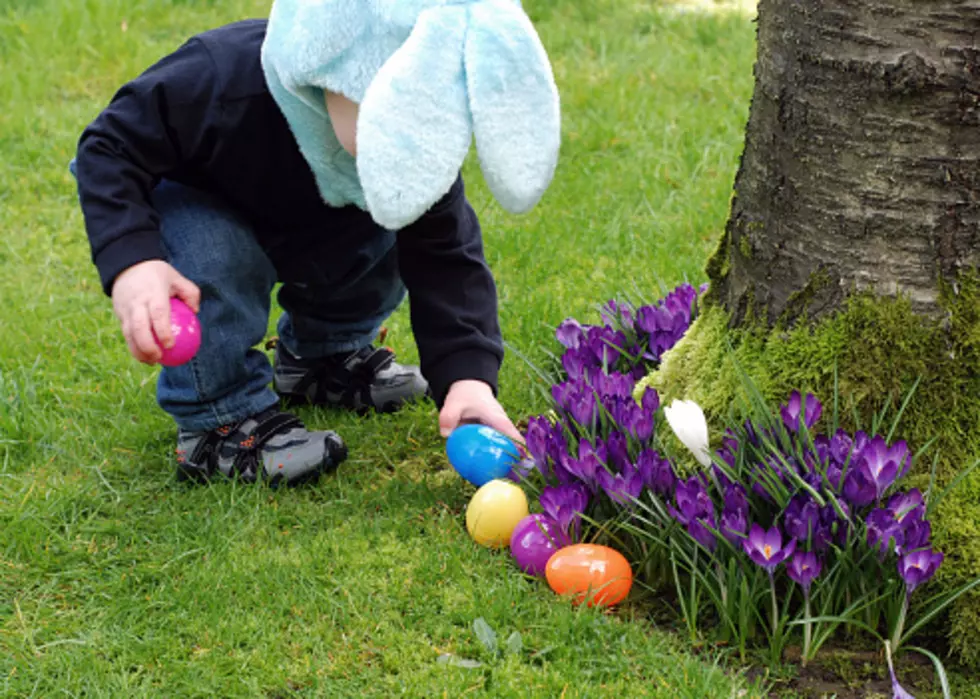
M422 374L441 408L453 382L477 379L497 392L503 341L497 289L483 255L480 224L462 179L398 233Z

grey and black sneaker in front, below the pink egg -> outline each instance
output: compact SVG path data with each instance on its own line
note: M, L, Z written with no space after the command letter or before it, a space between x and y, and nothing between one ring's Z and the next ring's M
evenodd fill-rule
M209 432L177 433L177 476L208 481L215 473L272 486L315 481L347 458L335 432L310 432L295 415L270 408Z

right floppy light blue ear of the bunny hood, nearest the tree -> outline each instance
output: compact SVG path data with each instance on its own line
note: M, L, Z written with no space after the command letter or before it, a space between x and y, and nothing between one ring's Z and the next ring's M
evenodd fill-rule
M558 88L531 20L509 0L470 5L465 64L480 168L512 213L551 184L561 145Z

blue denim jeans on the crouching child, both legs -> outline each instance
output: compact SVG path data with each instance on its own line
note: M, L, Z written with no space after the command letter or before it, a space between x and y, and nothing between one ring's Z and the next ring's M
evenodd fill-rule
M272 367L255 349L278 300L279 341L294 355L323 357L369 345L405 298L395 233L353 208L330 231L297 232L260 244L222 200L163 181L152 194L168 262L201 290L202 342L179 367L163 367L157 401L186 430L210 430L278 402Z

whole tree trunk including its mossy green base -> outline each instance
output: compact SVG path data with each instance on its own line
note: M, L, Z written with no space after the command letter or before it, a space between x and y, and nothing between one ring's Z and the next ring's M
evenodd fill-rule
M728 412L740 365L774 403L864 425L920 381L896 438L940 482L980 458L980 13L936 0L761 0L756 85L711 292L648 377ZM931 458L912 478L924 487ZM944 501L944 586L980 575L980 473ZM980 593L949 638L980 667Z

